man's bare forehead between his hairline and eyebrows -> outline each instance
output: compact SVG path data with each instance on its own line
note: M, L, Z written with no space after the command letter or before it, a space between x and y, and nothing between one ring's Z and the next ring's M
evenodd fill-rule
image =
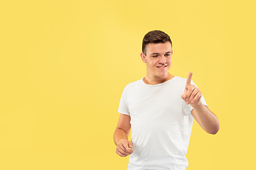
M146 45L146 52L165 53L171 51L171 42L149 43Z

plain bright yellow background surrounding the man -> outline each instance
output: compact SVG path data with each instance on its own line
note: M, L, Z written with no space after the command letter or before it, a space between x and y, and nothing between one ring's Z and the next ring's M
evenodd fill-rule
M126 169L112 140L124 86L145 76L149 30L173 41L171 74L218 115L193 124L188 170L253 169L255 1L0 1L0 169Z

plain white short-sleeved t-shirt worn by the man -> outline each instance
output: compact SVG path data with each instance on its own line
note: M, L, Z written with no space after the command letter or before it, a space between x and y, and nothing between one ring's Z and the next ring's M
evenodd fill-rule
M193 108L181 98L185 85L186 79L174 77L156 85L140 79L124 88L118 112L131 116L134 152L129 157L129 170L188 167ZM203 96L201 101L206 105Z

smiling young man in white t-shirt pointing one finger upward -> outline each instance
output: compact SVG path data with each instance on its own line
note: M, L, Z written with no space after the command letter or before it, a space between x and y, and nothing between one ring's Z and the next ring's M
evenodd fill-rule
M206 106L201 91L191 81L169 74L173 50L169 35L153 30L144 36L142 61L146 77L123 91L114 132L116 152L129 157L129 170L184 170L193 118L210 134L219 121ZM132 140L128 140L132 128Z

